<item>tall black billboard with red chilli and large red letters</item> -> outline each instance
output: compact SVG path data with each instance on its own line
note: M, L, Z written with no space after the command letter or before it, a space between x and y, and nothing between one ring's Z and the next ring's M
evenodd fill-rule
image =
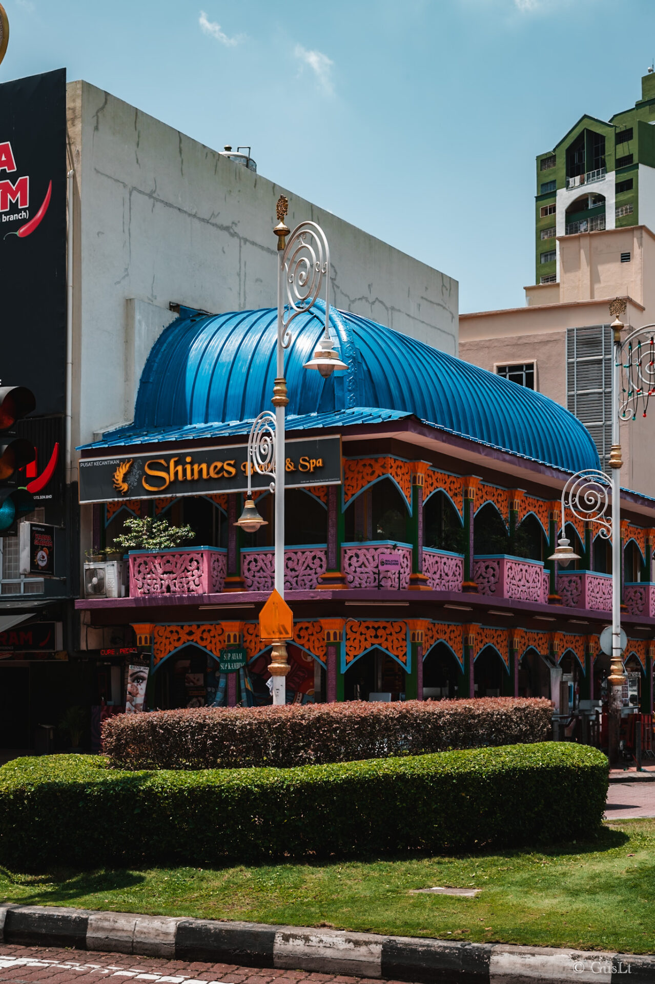
M2 83L0 375L39 416L65 410L66 170L66 70Z

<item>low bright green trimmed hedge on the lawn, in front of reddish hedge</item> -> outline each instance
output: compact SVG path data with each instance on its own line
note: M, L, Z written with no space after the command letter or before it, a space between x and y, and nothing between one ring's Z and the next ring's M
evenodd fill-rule
M91 756L0 769L0 863L256 862L588 836L607 760L568 743L294 769L128 772Z

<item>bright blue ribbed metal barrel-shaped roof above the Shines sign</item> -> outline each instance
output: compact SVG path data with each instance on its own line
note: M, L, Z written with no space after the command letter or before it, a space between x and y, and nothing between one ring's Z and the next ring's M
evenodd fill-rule
M292 323L287 415L386 408L569 471L600 466L588 431L559 403L358 315L329 312L348 371L324 380L304 370L324 320L317 304ZM270 407L275 334L273 308L178 318L150 351L132 433L256 417Z

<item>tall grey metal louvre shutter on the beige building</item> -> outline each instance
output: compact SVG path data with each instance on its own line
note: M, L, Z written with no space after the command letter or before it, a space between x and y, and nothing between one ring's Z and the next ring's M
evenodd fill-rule
M612 445L612 330L566 330L566 406L591 434L607 467Z

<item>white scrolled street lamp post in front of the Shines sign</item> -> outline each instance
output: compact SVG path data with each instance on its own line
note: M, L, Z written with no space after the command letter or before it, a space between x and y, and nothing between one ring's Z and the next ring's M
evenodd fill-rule
M274 413L265 410L255 419L248 439L248 496L237 525L246 532L256 532L266 523L255 507L252 496L251 471L268 475L270 491L275 494L274 523L274 587L284 597L284 413L289 402L284 378L284 351L291 343L290 325L299 314L309 311L316 303L321 288L326 285L326 322L323 338L305 369L317 369L324 378L334 369L347 369L332 347L329 337L329 248L326 234L316 222L301 222L290 232L284 222L288 202L283 195L277 201L277 236L279 263L277 267L277 342L276 372L273 383ZM288 237L288 242L287 242ZM285 640L273 640L272 658L268 666L272 678L273 705L286 703L284 678L289 672Z

